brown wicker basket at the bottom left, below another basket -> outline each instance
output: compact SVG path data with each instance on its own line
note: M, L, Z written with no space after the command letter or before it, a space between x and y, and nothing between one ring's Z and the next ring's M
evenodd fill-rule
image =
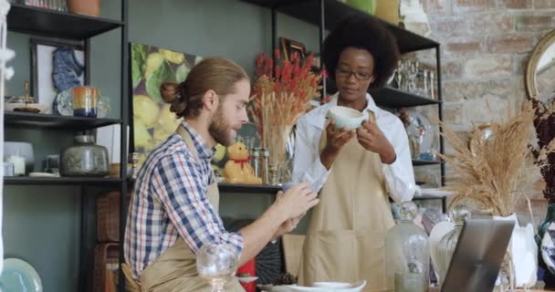
M99 244L94 250L94 292L115 292L120 245Z

